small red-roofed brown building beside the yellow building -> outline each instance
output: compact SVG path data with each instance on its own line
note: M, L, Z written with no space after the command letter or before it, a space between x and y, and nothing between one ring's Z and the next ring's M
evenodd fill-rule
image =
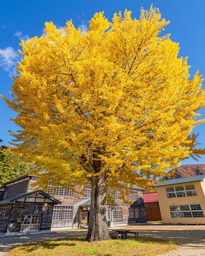
M144 193L143 197L147 221L161 221L162 216L159 208L157 192Z

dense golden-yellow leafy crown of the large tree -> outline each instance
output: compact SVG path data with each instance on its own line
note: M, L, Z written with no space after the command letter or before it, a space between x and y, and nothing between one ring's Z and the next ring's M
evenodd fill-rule
M189 80L178 44L160 36L169 22L158 9L103 15L87 32L46 23L44 35L21 42L14 101L5 99L22 127L19 150L69 177L160 176L193 152L201 76Z

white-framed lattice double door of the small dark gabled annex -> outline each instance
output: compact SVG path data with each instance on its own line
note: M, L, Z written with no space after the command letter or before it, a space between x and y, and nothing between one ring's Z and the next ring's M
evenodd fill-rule
M20 231L39 231L41 226L41 215L23 215Z

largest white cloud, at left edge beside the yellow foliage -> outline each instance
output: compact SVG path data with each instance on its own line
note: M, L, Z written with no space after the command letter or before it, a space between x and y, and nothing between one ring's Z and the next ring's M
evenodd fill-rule
M16 64L20 59L18 51L12 47L5 49L0 48L0 67L9 73L9 76L14 76L16 72Z

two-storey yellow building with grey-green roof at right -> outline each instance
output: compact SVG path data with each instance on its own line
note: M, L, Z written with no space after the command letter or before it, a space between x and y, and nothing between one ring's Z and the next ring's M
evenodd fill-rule
M205 224L205 174L154 186L164 224Z

